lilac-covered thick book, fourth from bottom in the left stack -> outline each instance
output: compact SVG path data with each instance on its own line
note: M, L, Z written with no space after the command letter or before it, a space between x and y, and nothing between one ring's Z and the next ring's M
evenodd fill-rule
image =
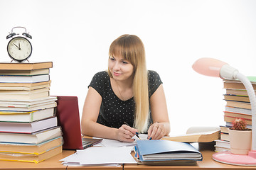
M57 117L32 123L0 122L0 132L33 133L57 126Z

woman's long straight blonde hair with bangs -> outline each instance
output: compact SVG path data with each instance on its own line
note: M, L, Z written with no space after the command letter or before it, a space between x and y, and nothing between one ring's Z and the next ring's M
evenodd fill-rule
M149 87L143 42L136 35L121 35L110 45L109 56L113 55L121 55L134 67L134 128L139 132L145 132L149 123ZM112 77L110 69L108 74Z

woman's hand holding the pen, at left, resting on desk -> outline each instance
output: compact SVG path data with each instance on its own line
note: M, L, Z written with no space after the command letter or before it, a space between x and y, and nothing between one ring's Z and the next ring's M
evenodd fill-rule
M122 142L134 142L135 133L138 132L137 129L131 128L128 125L122 125L117 129L116 139Z

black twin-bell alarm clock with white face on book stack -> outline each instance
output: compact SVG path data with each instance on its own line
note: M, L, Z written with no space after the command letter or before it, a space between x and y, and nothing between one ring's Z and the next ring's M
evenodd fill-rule
M14 33L14 28L12 28L11 33L6 36L6 39L11 38L7 45L8 55L12 59L11 62L13 60L16 60L17 62L23 62L24 60L28 61L28 58L31 57L32 54L32 45L28 38L32 39L32 36L26 33L26 28L24 28L25 33L22 33L21 35Z

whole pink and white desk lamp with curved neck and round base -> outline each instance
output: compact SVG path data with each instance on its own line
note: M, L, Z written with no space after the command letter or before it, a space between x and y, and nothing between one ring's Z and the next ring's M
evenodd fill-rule
M213 58L201 58L192 68L203 75L222 79L239 79L244 84L252 108L252 149L247 155L232 154L229 151L213 154L213 159L225 164L256 166L256 96L249 79L225 62Z

